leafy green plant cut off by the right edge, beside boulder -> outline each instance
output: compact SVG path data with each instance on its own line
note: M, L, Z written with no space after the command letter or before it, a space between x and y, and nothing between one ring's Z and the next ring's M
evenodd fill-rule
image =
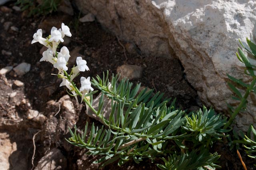
M252 56L252 58L255 60L256 59L256 44L254 44L253 42L251 42L248 38L246 39L247 44L249 46L250 49L246 48L242 42L239 40L242 48L244 48L245 50L247 50L247 52ZM234 118L236 117L236 115L238 113L241 113L243 110L246 110L246 106L247 106L247 98L249 96L250 93L256 93L256 76L254 74L254 70L256 68L255 65L251 64L251 62L248 60L248 57L245 56L244 52L238 48L238 53L236 53L237 58L244 63L245 65L245 69L244 69L244 73L248 76L251 77L251 80L249 83L245 83L240 79L234 78L230 75L228 75L228 78L230 78L230 80L232 80L234 83L236 83L238 86L242 86L245 90L244 95L242 96L240 90L238 90L238 88L236 88L233 84L228 83L228 85L230 86L230 88L232 89L232 91L234 92L234 94L236 96L232 96L232 98L234 100L238 100L240 101L239 105L234 108L230 105L228 105L228 107L231 110L231 117L228 120L228 123L224 126L224 128L228 128L228 126L230 126L230 124L232 124L232 122L234 121ZM239 139L239 136L236 132L234 132L235 136L237 139ZM252 135L251 135L252 134ZM242 136L243 140L234 140L232 141L233 144L238 144L238 143L242 143L243 146L246 148L246 153L248 154L249 157L251 158L256 158L255 152L256 152L256 131L254 129L254 127L251 125L248 129L247 132L247 136L244 134L241 134L240 136ZM256 166L256 164L254 164Z

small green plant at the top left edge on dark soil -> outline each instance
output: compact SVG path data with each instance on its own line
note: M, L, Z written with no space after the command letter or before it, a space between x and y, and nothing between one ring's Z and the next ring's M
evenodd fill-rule
M29 10L28 17L56 12L59 4L60 0L42 0L40 3L37 0L17 0L16 2L22 11Z

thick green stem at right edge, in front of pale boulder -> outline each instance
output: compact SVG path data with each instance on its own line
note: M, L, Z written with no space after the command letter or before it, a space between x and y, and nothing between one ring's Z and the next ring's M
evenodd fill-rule
M228 120L227 124L224 126L224 129L227 129L228 126L230 126L230 124L232 124L232 122L234 121L234 119L236 118L236 115L240 112L240 110L244 107L244 105L246 104L247 98L250 94L250 92L252 91L254 85L256 83L256 77L253 78L252 83L250 84L250 86L246 89L246 92L244 94L244 97L242 98L240 104L238 105L238 107L235 109L235 111L232 113L230 119Z

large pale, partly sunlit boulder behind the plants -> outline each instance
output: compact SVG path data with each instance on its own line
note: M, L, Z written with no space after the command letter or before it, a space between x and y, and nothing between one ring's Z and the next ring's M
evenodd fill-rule
M238 38L245 42L255 36L253 0L75 1L84 13L91 12L121 39L136 44L142 54L172 58L175 52L207 106L227 109L232 93L226 74L246 79L235 52ZM249 114L236 119L242 130L255 122L252 104L250 100Z

